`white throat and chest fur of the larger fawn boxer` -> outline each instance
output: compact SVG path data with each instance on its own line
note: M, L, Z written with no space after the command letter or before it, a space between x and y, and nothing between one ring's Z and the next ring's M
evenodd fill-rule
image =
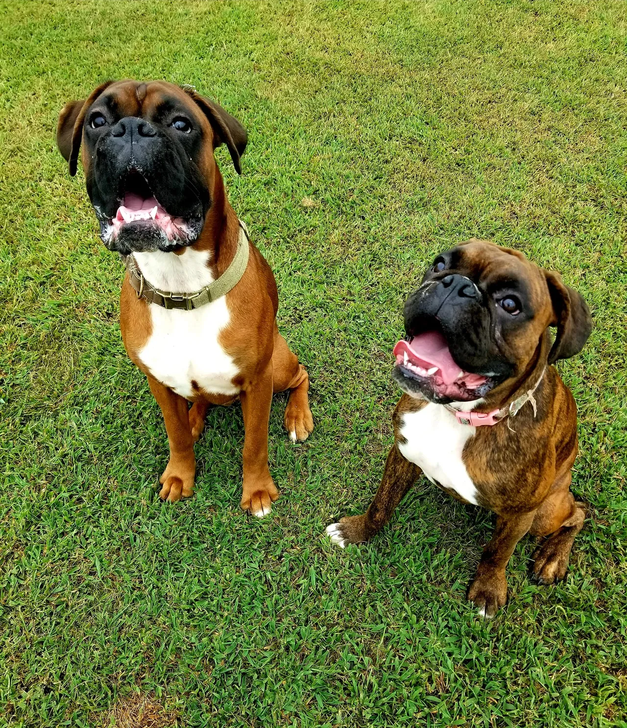
M146 280L162 290L192 293L213 281L207 267L209 254L187 248L174 253L135 253ZM229 324L226 296L199 309L181 311L149 304L152 333L138 356L152 376L182 397L192 397L195 381L201 389L236 395L232 384L238 370L218 342Z

